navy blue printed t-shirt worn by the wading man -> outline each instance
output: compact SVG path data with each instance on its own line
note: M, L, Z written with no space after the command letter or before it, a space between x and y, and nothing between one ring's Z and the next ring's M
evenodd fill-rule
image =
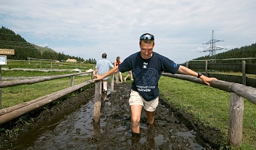
M154 100L159 95L158 80L161 73L164 71L175 74L178 68L179 65L157 52L153 52L152 57L148 59L142 58L141 53L136 52L118 65L122 73L133 71L132 89L139 92L145 101Z

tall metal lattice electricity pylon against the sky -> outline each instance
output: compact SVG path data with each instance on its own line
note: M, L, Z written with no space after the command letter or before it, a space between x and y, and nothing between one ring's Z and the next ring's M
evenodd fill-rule
M207 49L203 50L203 52L209 52L209 57L211 58L211 62L214 62L214 63L216 62L216 50L224 49L224 48L215 46L215 43L219 41L224 41L224 40L215 40L214 31L212 30L211 40L209 40L207 43L203 43L203 44L210 44L210 46Z

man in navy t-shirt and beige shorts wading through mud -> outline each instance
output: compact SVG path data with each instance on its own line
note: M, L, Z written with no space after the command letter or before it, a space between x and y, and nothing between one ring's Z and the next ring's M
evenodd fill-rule
M130 93L131 130L133 137L140 137L139 122L141 119L142 107L145 109L148 124L154 124L155 110L158 105L158 81L164 71L171 74L187 74L209 83L215 78L209 78L201 73L178 65L169 58L154 52L154 35L142 34L139 37L140 51L125 58L123 62L112 68L104 75L96 75L96 80L102 80L117 72L133 71L133 83ZM175 86L175 85L173 85Z

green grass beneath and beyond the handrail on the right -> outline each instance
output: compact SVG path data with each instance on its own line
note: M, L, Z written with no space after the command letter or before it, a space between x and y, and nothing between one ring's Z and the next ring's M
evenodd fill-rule
M194 115L194 120L209 127L217 127L227 141L230 93L209 86L161 77L160 93L175 107ZM245 100L242 145L239 149L256 148L256 106ZM236 149L236 148L234 148Z

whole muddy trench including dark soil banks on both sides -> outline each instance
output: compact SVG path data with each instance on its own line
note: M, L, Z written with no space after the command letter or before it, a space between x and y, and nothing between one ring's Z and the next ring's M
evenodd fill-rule
M142 111L141 138L130 130L131 83L114 86L93 121L94 87L0 126L0 149L219 149L218 129L203 127L160 95L154 126ZM110 92L108 92L110 94Z

